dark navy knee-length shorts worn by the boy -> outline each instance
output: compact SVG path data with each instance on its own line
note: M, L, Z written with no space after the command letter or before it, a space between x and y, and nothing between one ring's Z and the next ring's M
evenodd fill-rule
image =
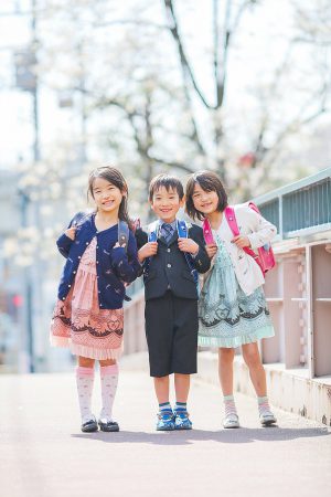
M146 302L145 319L150 376L196 373L197 300L168 290Z

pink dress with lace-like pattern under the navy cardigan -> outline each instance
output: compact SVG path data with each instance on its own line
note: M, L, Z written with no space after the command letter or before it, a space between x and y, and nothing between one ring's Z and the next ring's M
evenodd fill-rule
M57 300L51 343L73 355L105 360L122 351L124 310L100 309L96 273L96 237L84 252L75 283L65 300Z

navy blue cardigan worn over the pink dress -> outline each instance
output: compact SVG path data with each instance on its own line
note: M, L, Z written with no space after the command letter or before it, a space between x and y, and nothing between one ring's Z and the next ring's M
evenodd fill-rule
M68 228L72 226L72 219ZM129 232L127 251L114 248L118 242L118 224L107 230L97 231L94 222L95 213L86 214L78 224L75 240L62 234L56 241L60 253L66 257L58 286L58 298L65 300L75 281L77 268L87 245L94 236L96 245L97 287L100 309L120 309L125 298L125 283L134 282L141 273L137 258L137 243L134 233Z

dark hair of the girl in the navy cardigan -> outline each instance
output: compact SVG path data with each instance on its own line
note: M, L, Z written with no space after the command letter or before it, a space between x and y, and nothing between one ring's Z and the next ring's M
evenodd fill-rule
M103 178L104 180L108 181L109 183L114 184L116 188L118 188L120 190L120 192L122 193L122 198L121 198L121 202L119 204L118 218L121 221L125 221L126 223L128 223L129 228L132 229L132 222L128 214L129 190L128 190L127 182L124 179L121 172L118 169L113 168L110 166L102 166L102 167L96 168L93 171L90 171L89 177L88 177L87 199L89 199L89 195L94 199L93 186L94 186L94 180L96 178Z

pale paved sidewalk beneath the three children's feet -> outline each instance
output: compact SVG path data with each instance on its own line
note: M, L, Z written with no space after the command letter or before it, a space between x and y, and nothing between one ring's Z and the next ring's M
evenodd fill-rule
M238 394L243 427L221 430L218 389L194 381L195 430L154 432L151 380L127 368L119 433L81 433L74 374L0 377L1 496L331 495L330 429L281 411L279 427L261 429L255 401Z

